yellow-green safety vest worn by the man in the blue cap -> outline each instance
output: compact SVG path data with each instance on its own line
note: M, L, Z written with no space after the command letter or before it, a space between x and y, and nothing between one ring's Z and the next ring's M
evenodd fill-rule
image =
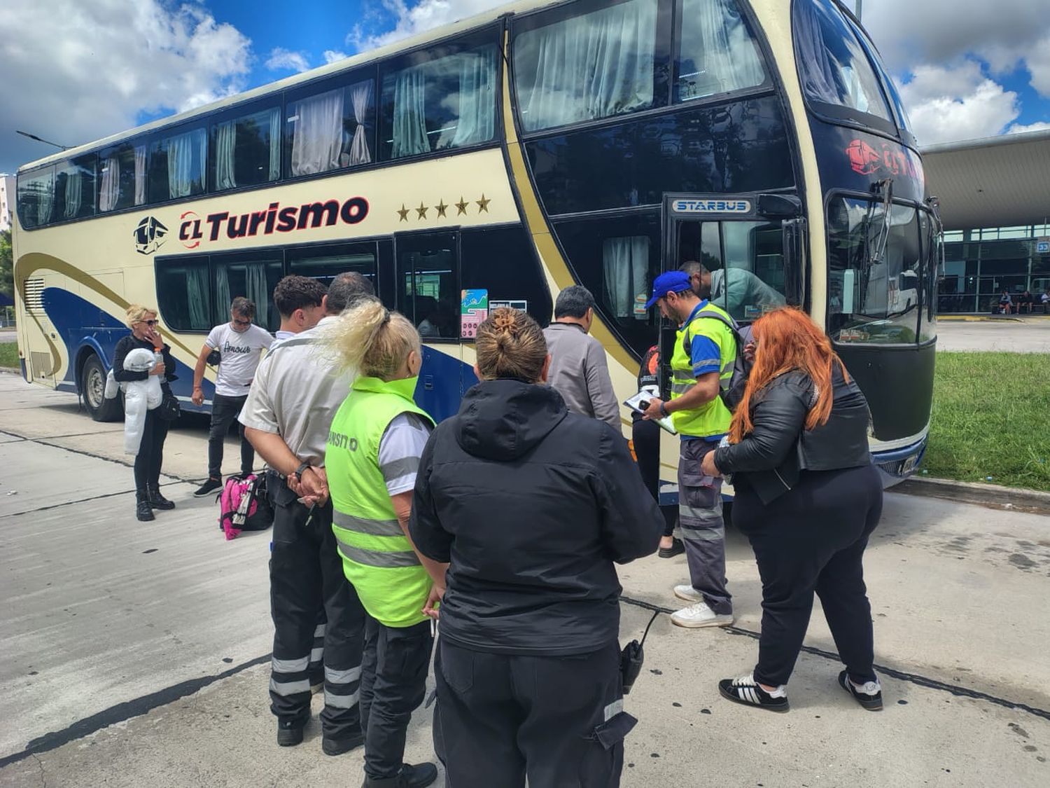
M727 320L732 322L732 318L730 318L724 310L710 302L705 304L699 311L718 312L724 315ZM693 319L678 329L675 334L674 352L671 354L671 399L677 399L696 386L696 376L693 374L693 359L686 353L687 332L690 340L694 336L706 336L714 340L715 345L718 346L719 388L727 388L733 377L733 365L736 362L736 340L733 338L730 329L721 320L697 317L695 314L692 317ZM705 330L700 331L700 327ZM692 347L691 341L690 347ZM698 408L688 411L675 411L671 414L674 429L680 434L701 438L729 432L732 418L733 415L722 402L721 397L715 397L710 402L705 402Z

